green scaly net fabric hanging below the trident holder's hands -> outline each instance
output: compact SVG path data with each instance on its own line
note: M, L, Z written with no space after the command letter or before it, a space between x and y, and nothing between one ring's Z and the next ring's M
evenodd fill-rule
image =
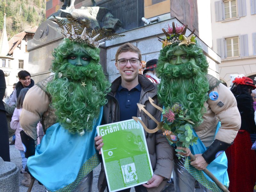
M221 188L219 188L219 186L214 183L209 181L205 176L203 171L199 171L197 170L195 167L193 167L192 165L190 165L188 157L185 160L184 163L184 167L188 170L188 172L199 182L201 183L204 187L206 187L207 189L213 191L213 192L222 192ZM228 186L225 186L226 188L228 188Z

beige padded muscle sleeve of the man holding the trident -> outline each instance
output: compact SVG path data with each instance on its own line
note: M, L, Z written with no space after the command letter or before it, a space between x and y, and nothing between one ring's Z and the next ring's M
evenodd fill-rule
M236 98L233 93L223 84L219 84L212 91L219 94L217 100L208 99L207 103L221 122L215 139L226 143L232 143L241 127L241 117L237 108ZM224 105L218 103L222 102Z

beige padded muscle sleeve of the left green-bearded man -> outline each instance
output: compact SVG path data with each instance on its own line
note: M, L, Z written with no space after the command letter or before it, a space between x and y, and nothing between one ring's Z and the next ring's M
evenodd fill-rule
M29 89L23 101L23 108L20 114L20 126L24 132L34 140L37 138L37 123L48 109L48 106L49 98L40 87L35 85Z

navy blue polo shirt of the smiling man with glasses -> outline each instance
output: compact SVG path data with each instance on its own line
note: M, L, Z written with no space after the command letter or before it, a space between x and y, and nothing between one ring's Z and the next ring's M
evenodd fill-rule
M138 106L140 101L141 86L138 84L130 91L119 85L116 92L116 99L120 106L120 121L132 119L132 116L137 117Z

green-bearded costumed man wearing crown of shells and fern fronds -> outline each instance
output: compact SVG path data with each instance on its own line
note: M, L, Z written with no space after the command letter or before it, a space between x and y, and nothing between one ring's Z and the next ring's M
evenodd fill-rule
M20 115L20 125L32 142L40 119L45 131L27 165L48 191L90 192L92 170L99 164L94 148L96 126L101 123L110 87L98 47L119 35L105 29L92 31L88 20L56 21L65 38L53 51L55 74L29 90Z

